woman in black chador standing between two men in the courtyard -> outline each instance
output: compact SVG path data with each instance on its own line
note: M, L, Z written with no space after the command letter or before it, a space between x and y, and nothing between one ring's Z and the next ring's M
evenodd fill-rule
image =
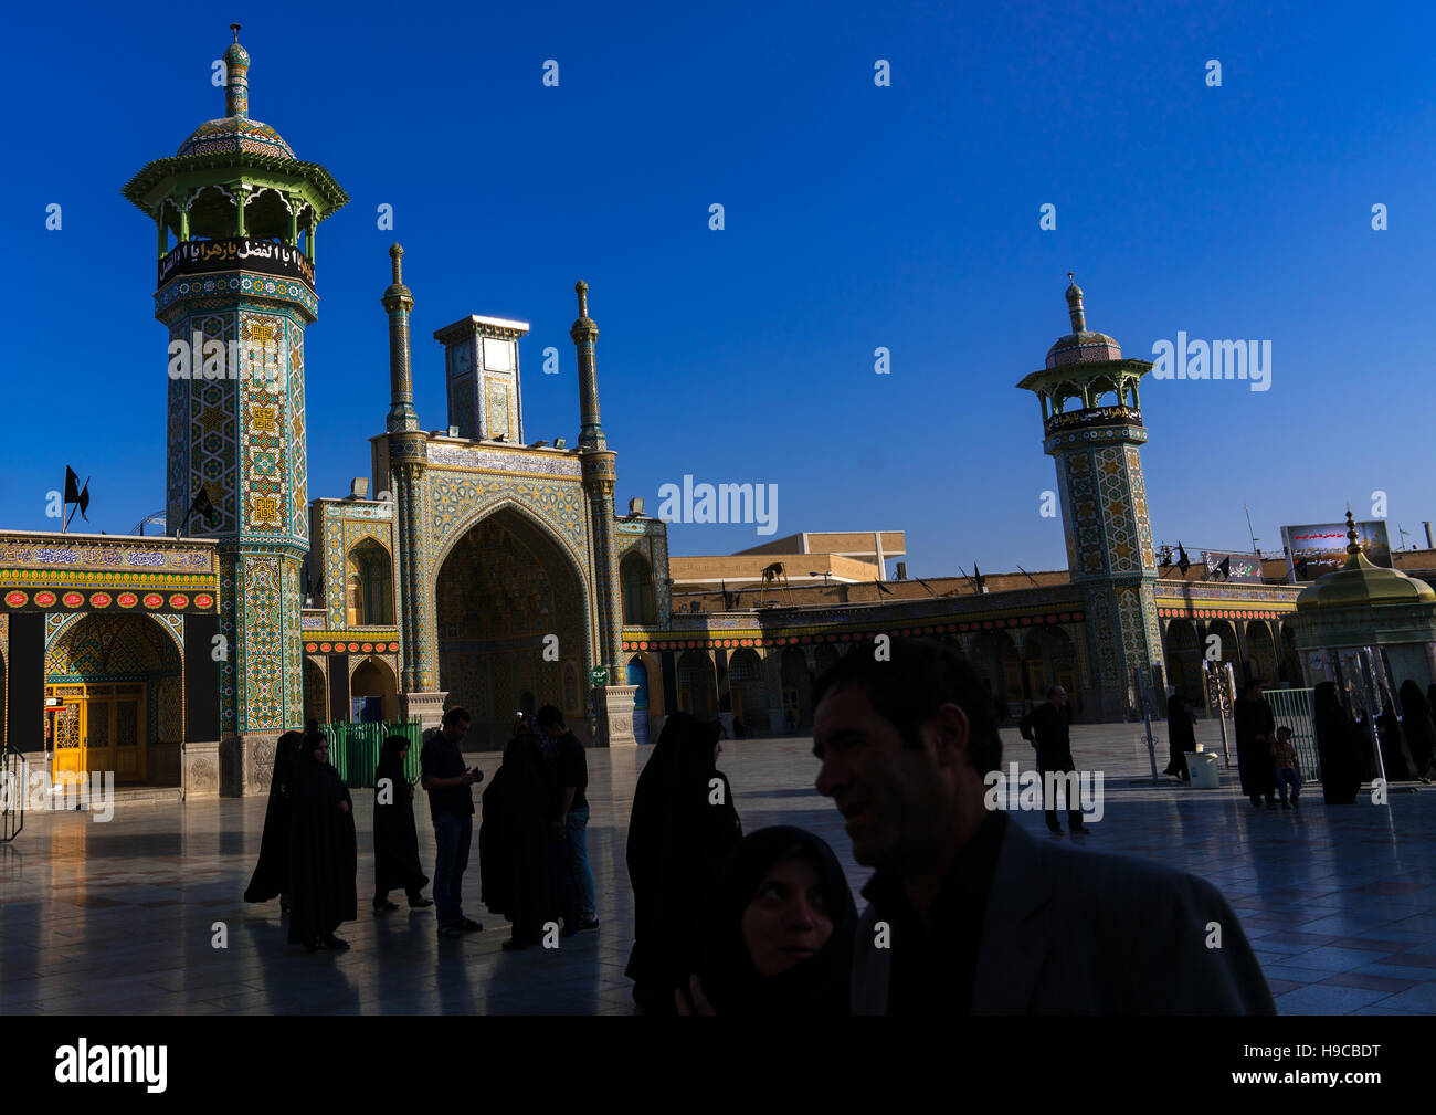
M504 948L538 944L543 922L556 917L549 871L553 797L533 724L520 717L504 762L484 790L478 829L482 901L513 930Z

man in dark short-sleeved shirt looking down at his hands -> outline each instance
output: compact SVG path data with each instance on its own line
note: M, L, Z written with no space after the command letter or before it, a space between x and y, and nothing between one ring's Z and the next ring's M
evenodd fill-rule
M421 785L428 790L434 819L434 901L439 937L462 937L484 928L464 917L464 872L474 842L472 786L484 777L484 772L464 766L464 753L458 749L468 724L467 710L449 708L442 727L419 751Z

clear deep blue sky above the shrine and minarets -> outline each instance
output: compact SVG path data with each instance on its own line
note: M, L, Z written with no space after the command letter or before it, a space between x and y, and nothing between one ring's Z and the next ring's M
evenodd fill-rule
M1376 489L1393 545L1397 522L1419 536L1436 517L1426 6L145 10L7 13L0 526L52 529L66 463L93 474L92 530L164 506L155 236L119 190L224 114L210 66L234 20L251 115L352 197L317 241L310 496L369 473L399 240L425 428L447 424L434 329L485 313L533 323L526 434L572 444L567 329L589 282L620 506L656 510L685 473L777 484L778 535L903 529L915 575L1063 568L1037 399L1014 385L1067 332L1074 270L1088 328L1129 356L1178 330L1272 342L1265 394L1149 378L1157 540L1245 547L1246 501L1279 547L1281 523L1347 500L1361 517ZM540 374L549 345L559 376Z

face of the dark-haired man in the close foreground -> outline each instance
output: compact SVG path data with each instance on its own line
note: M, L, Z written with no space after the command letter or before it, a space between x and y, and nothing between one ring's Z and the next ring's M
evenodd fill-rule
M829 693L819 704L813 714L813 753L823 762L817 792L831 797L846 818L859 864L899 868L933 842L952 809L962 808L952 792L952 764L938 757L938 721L929 720L922 727L923 746L905 747L892 721L873 710L864 685ZM966 754L958 759L965 763Z

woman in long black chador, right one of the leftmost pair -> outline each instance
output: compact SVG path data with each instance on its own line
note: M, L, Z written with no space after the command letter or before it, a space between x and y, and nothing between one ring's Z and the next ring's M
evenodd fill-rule
M322 733L304 737L294 764L293 797L289 943L303 944L309 951L348 948L349 943L335 937L335 930L359 915L353 802L339 772L329 764L329 740Z

